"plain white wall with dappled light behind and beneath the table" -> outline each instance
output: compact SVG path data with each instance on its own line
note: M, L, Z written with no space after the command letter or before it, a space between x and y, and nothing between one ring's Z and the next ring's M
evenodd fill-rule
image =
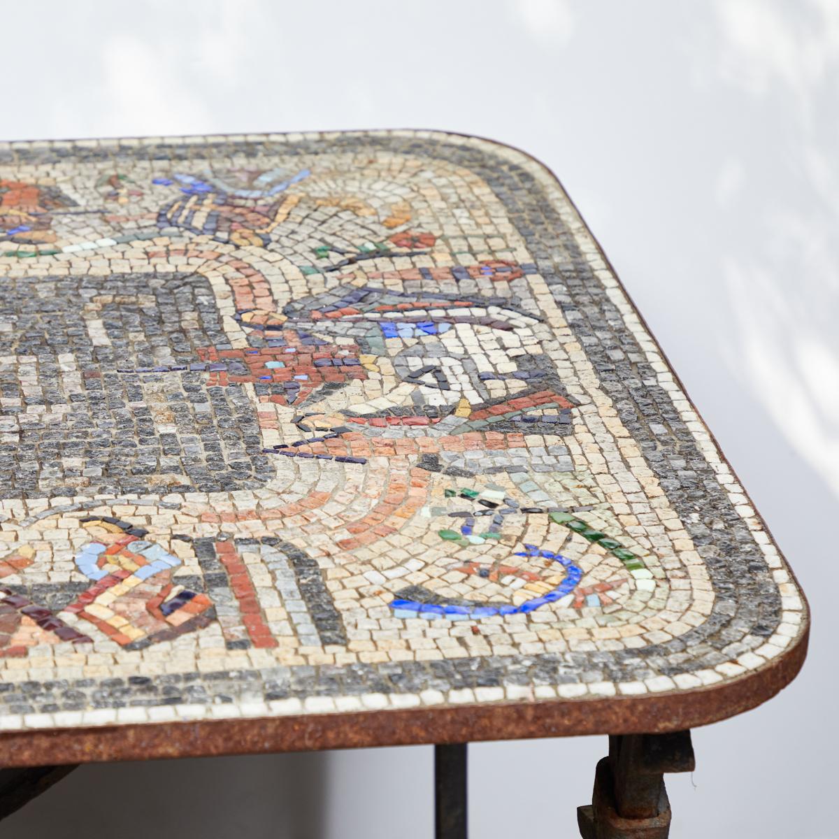
M815 612L794 685L695 732L672 836L839 836L837 0L40 0L0 27L3 139L444 128L549 164ZM473 747L473 839L575 836L605 748ZM430 748L87 767L2 831L419 839Z

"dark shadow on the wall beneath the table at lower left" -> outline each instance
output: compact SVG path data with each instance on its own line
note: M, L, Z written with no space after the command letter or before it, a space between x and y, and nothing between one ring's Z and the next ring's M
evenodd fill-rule
M327 753L91 764L3 821L3 839L320 839Z

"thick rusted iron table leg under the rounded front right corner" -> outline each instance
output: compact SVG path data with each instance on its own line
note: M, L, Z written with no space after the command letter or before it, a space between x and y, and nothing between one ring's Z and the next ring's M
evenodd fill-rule
M583 839L667 839L670 801L665 772L692 772L690 732L609 737L597 763L591 805L577 808Z

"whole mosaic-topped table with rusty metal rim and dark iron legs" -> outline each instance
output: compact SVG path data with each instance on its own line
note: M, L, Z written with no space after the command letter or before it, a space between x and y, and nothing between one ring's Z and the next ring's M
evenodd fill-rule
M799 670L794 577L526 154L5 143L0 238L6 800L435 743L461 836L457 744L609 734L583 835L666 836L685 732Z

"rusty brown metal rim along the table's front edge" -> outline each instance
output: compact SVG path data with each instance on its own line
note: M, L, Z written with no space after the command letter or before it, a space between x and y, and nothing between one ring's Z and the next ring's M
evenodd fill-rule
M0 734L0 765L682 731L734 717L775 696L804 664L809 633L808 626L795 646L761 670L696 690L655 696L24 730Z

